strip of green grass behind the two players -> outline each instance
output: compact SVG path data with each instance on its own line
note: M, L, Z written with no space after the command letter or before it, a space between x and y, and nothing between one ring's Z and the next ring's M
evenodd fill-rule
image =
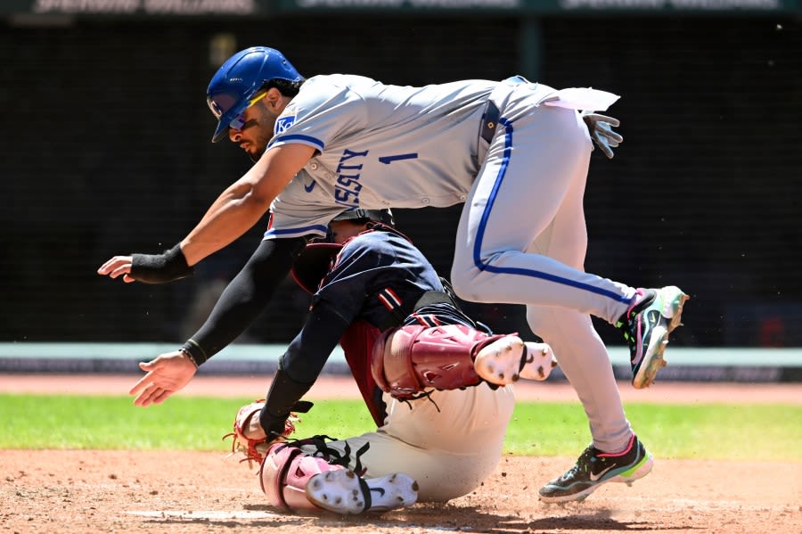
M97 448L225 451L233 416L250 398L176 396L135 407L130 397L0 395L0 449ZM325 404L325 407L323 407ZM802 461L802 407L628 404L626 415L658 457ZM318 401L299 437L347 438L372 431L358 400ZM577 456L590 441L575 403L519 403L505 450Z

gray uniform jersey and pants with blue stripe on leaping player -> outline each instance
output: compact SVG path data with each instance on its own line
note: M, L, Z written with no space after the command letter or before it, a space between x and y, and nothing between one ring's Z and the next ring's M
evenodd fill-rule
M635 289L584 271L593 145L577 113L617 99L520 77L422 87L309 78L277 119L268 150L297 143L317 152L275 199L266 238L324 234L347 207L464 202L454 289L466 300L526 305L529 325L583 402L593 444L621 450L632 430L588 314L615 323Z

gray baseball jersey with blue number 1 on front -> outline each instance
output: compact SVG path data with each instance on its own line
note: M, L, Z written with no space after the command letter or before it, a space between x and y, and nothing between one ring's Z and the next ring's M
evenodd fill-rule
M275 199L266 237L325 234L328 221L349 207L464 202L479 171L480 119L495 86L309 78L276 121L269 147L299 143L320 153Z

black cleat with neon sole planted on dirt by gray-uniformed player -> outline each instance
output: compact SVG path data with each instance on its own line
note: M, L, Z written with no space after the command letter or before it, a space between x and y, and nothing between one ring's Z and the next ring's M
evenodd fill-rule
M544 503L581 502L606 482L632 485L649 474L653 464L651 454L634 434L629 446L620 453L605 453L591 445L585 448L576 465L541 488L538 497Z

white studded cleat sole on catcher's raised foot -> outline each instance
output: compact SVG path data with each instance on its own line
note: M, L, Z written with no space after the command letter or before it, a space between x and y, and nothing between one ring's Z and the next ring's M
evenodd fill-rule
M521 341L517 335L506 335L479 350L473 368L482 379L500 386L519 378L545 380L557 362L546 343Z

